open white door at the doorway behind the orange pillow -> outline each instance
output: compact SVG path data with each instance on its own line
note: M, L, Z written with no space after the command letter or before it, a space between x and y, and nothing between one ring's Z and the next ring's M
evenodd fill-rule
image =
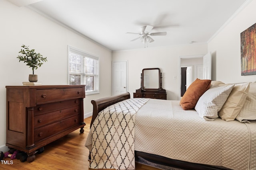
M203 57L203 79L212 79L212 53L209 52Z

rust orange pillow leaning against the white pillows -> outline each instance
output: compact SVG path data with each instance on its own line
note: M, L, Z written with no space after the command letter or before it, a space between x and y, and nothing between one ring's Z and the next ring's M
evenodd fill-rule
M199 98L210 88L211 81L212 80L200 80L197 78L192 82L180 100L182 109L194 109Z

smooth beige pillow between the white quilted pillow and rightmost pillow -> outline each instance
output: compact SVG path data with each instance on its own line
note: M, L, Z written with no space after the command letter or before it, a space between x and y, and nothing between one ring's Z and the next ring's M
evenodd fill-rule
M222 86L223 84L219 85ZM230 92L228 99L218 112L218 115L221 117L221 119L226 121L233 121L236 118L244 105L249 88L249 82L234 85L234 88Z

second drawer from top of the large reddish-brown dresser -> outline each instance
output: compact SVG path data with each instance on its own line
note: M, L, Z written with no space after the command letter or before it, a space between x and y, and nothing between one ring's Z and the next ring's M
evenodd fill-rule
M79 106L81 99L66 100L48 104L40 104L34 107L34 115L41 115L52 111L62 110L69 107Z

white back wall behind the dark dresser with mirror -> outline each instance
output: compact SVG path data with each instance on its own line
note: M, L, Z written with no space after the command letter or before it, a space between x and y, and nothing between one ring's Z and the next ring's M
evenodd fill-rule
M140 88L140 73L143 68L160 68L162 87L167 92L167 100L178 100L179 56L205 55L207 44L144 48L129 51L114 51L113 61L128 61L128 92L131 96ZM174 79L176 76L176 79Z

